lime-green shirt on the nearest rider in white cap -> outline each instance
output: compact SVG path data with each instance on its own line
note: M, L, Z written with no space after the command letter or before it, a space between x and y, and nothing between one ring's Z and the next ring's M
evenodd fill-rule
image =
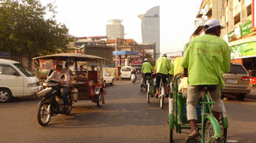
M230 49L216 35L200 35L192 39L181 66L188 68L191 86L218 85L224 87L222 74L230 71Z

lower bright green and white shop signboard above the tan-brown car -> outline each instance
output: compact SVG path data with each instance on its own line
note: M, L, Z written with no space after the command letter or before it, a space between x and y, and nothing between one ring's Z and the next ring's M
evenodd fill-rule
M256 42L248 42L231 47L231 59L256 57Z

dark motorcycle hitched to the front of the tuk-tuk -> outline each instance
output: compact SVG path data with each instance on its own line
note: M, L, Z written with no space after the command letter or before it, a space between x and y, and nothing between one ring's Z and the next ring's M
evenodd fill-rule
M77 89L69 89L68 101L69 108L65 111L63 97L61 96L61 83L55 81L49 81L48 83L43 83L46 87L44 90L39 91L38 97L43 97L39 101L39 110L37 119L39 124L46 127L50 123L51 116L57 116L58 114L69 115L72 110L72 101L76 101Z

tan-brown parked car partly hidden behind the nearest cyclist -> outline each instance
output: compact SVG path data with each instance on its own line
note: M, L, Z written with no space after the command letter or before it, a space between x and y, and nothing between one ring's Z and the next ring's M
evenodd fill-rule
M225 87L223 94L231 94L237 97L237 100L243 101L246 94L250 94L250 76L242 64L232 63L229 73L222 75Z

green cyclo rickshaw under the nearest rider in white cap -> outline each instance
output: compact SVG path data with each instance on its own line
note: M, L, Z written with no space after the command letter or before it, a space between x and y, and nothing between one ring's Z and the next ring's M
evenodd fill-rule
M176 57L174 61L174 86L173 94L169 97L169 142L173 143L173 130L176 128L176 133L181 134L181 130L190 130L190 124L187 121L187 87L182 83L187 83L186 77L183 76L184 69L180 66L182 57ZM184 86L184 89L180 87ZM202 97L198 101L196 112L198 121L196 122L198 133L201 133L198 138L190 142L202 143L224 143L227 138L228 119L224 108L224 103L221 101L221 117L217 120L211 111L210 106L215 105L211 102L210 91L214 90L213 86L202 86Z

